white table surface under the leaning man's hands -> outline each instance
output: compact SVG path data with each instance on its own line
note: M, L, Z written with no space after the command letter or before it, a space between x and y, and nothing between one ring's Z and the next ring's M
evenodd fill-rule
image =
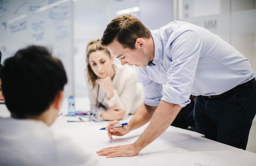
M89 100L76 98L76 110L89 110ZM0 104L0 116L8 117L8 111ZM63 114L67 113L67 101L62 105ZM121 120L128 122L131 116ZM86 119L86 118L84 118ZM111 166L241 166L256 165L256 154L234 148L216 141L201 137L193 131L170 126L160 137L145 147L134 157L106 158L98 156L97 150L109 146L131 144L136 141L147 124L131 131L122 137L108 139L106 131L99 130L107 125L103 122L66 122L77 120L76 117L60 116L51 127L56 132L68 135L83 147L91 158L98 161L97 165Z

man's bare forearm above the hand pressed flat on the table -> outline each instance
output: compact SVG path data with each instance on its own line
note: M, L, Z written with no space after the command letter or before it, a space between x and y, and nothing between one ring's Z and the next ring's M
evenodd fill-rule
M181 108L182 107L178 104L161 101L148 127L144 130L139 139L134 142L135 147L138 147L140 151L159 137L170 126Z

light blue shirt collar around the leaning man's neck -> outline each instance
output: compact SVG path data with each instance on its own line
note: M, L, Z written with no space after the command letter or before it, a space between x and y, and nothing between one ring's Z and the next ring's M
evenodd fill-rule
M162 61L163 59L163 44L158 29L150 30L150 33L153 38L155 48L154 59L152 63L155 64L156 61Z

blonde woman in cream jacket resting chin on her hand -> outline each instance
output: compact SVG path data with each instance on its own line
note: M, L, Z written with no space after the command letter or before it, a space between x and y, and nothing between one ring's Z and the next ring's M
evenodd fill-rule
M134 114L143 103L143 90L137 72L130 66L114 63L114 57L99 39L86 48L85 77L91 111L100 120L120 120Z

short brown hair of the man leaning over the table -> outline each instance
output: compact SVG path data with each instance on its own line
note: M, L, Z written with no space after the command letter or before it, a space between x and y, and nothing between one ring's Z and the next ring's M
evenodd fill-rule
M135 49L137 38L150 38L150 30L132 15L121 15L114 18L105 29L101 44L108 46L115 38L124 47Z

